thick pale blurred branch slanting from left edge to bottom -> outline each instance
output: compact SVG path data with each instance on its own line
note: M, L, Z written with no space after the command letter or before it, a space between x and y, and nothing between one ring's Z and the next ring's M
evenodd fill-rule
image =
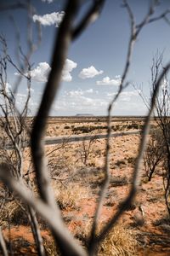
M29 207L32 207L42 218L44 218L54 235L54 239L57 242L59 249L63 255L71 256L87 256L88 254L82 249L82 247L75 241L73 236L69 233L65 227L63 219L59 211L56 211L54 207L51 207L42 199L36 198L31 190L26 187L21 181L17 181L10 175L10 170L7 164L1 164L0 177L9 189L14 191L20 196L20 199L26 203Z

